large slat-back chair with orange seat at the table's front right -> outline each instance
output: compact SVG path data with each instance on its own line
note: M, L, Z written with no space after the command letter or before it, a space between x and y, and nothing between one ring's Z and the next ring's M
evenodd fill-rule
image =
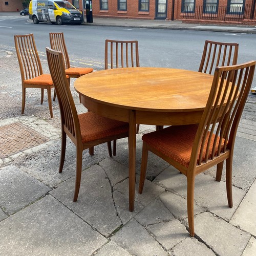
M234 141L250 91L256 61L215 69L209 97L199 124L169 126L142 136L139 194L145 181L148 151L177 168L187 178L187 214L194 237L195 177L217 165L220 181L226 160L226 190L232 208L232 158ZM226 79L224 78L226 77ZM220 167L221 166L221 167Z

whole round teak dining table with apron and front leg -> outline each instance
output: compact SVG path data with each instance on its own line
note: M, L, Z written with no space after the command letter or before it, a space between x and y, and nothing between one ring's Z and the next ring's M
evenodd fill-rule
M213 76L181 69L120 68L79 77L74 82L90 111L129 122L129 210L134 210L136 123L199 123Z

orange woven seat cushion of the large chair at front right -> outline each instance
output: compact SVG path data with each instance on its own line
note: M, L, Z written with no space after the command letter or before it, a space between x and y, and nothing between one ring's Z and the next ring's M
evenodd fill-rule
M165 129L148 133L142 136L142 140L153 148L156 148L158 152L161 152L165 156L175 160L181 165L188 167L190 156L192 152L192 147L194 139L196 137L198 125L180 125L180 126L169 126ZM207 134L206 141L209 139L209 132ZM210 148L214 143L215 135L212 136L210 141ZM215 156L217 156L219 140L217 140ZM204 147L204 154L202 157L202 162L205 161L206 144ZM221 151L223 151L224 140L222 140ZM210 159L211 150L208 154L208 159ZM199 156L197 159L197 164L199 161Z

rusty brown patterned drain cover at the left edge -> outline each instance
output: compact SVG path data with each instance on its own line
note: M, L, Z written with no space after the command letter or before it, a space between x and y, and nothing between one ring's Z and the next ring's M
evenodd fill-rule
M1 126L0 158L9 157L47 141L47 137L19 122Z

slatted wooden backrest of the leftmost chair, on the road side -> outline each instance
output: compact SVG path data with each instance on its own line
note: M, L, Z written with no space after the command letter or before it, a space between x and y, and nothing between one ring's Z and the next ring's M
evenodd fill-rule
M42 67L34 35L14 35L14 42L22 81L41 75Z

